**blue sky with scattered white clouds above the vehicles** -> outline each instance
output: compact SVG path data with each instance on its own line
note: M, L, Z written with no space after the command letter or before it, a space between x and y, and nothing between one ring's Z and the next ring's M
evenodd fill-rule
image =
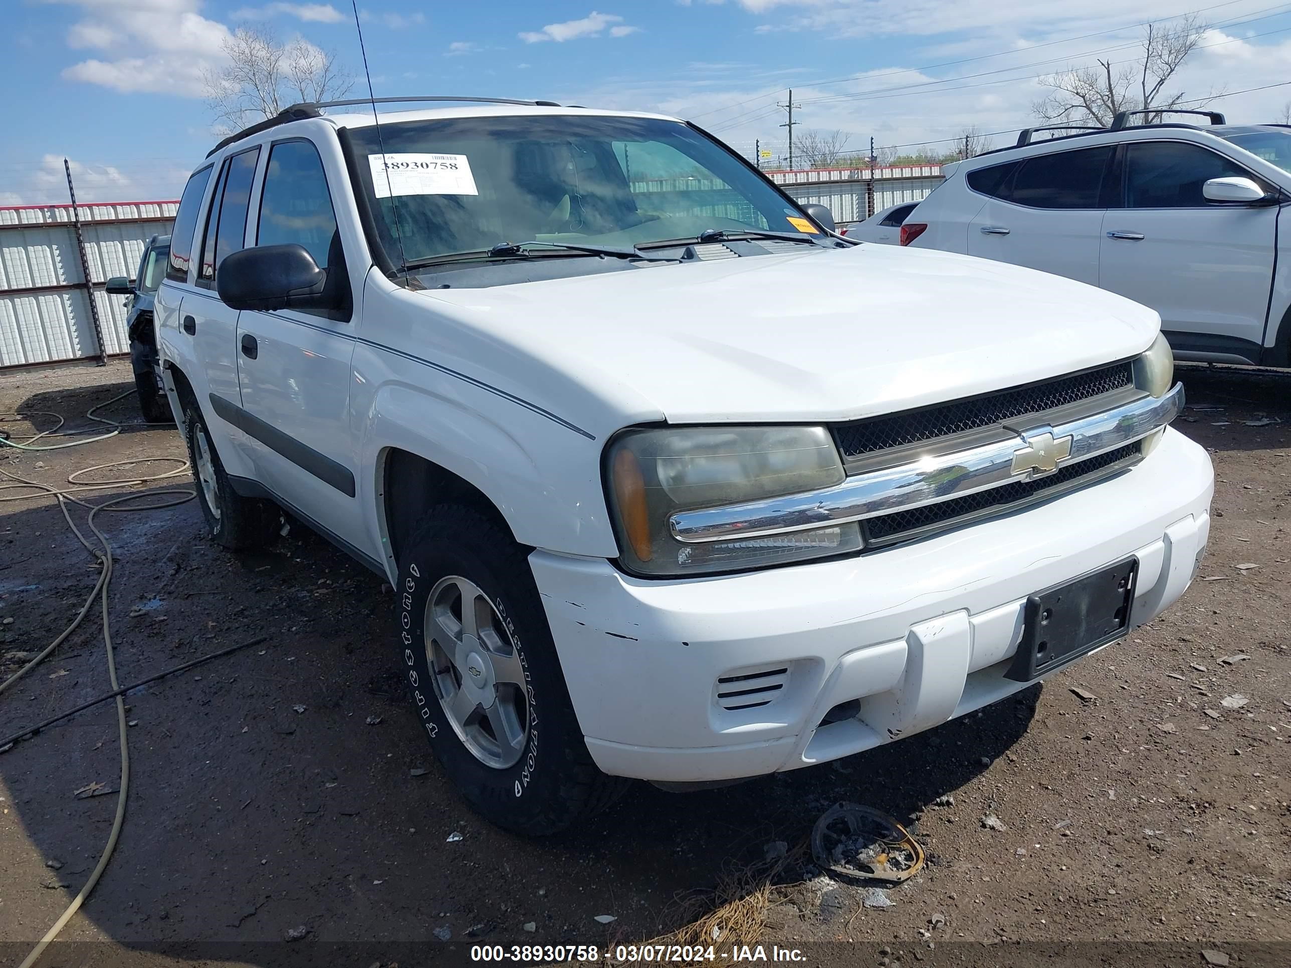
M551 99L693 120L737 151L799 133L948 148L1035 124L1038 76L1135 58L1144 23L1210 25L1179 72L1230 121L1291 105L1291 3L1270 0L492 0L359 3L378 97ZM0 205L174 199L218 139L203 77L239 26L334 50L367 93L349 0L0 0Z

